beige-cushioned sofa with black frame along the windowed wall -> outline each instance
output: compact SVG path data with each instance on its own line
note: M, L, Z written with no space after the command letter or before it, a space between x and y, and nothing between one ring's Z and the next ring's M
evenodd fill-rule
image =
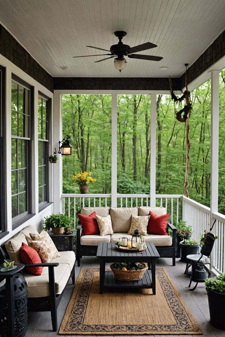
M28 226L8 240L0 247L0 259L10 258L15 264L22 263L20 248L23 242L30 245L30 233L38 234L33 226ZM23 269L27 282L28 311L51 311L53 331L57 331L57 307L69 278L75 284L75 260L73 251L60 251L60 257L50 263L29 265L45 267L41 275L32 275Z

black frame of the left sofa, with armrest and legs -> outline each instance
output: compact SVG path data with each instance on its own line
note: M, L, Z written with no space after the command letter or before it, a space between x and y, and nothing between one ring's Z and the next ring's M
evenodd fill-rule
M59 247L56 248L58 249ZM58 251L62 251L62 249L58 249ZM0 247L0 264L3 263L4 259L8 259L8 254L5 249L5 245L2 245ZM52 318L52 330L57 331L58 330L58 323L57 323L57 308L59 305L59 302L61 301L61 298L63 296L64 290L66 286L64 287L61 294L56 294L55 289L55 274L54 274L54 267L57 267L58 263L35 263L32 265L25 265L25 267L48 267L49 269L49 291L50 296L47 297L28 297L27 298L27 311L28 312L37 312L37 311L51 311L51 318ZM21 271L22 272L22 271ZM72 278L72 283L75 284L75 265L73 266L73 269L71 271L71 274L69 276L69 279ZM69 279L67 283L69 282ZM0 276L0 282L4 280L4 278L1 278ZM66 285L67 285L66 283Z

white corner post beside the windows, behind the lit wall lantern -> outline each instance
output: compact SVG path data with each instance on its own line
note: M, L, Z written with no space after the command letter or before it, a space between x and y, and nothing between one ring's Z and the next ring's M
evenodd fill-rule
M54 133L53 133L53 148L58 152L59 140L62 140L62 109L61 109L61 95L56 91L54 93ZM58 155L59 160L54 165L53 169L53 196L54 196L54 213L62 213L62 156Z

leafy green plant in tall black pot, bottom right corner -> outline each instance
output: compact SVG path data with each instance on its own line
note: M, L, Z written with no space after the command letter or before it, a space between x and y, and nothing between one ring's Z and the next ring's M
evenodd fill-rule
M210 324L221 330L225 330L224 308L225 308L225 274L209 277L205 280L208 295L208 307Z

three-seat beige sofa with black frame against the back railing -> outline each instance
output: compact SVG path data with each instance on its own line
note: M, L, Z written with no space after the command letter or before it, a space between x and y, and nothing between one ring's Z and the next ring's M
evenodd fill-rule
M82 235L82 226L79 223L77 226L77 264L80 266L80 258L84 256L96 255L97 245L99 242L113 242L116 243L121 237L131 238L128 234L131 226L131 216L141 215L146 216L149 211L157 216L166 214L164 207L87 207L81 209L81 214L90 215L96 212L100 216L111 216L112 228L114 234L112 235ZM172 230L172 237L166 235L148 234L145 236L146 242L153 242L161 257L172 257L173 266L175 266L176 255L176 227L168 223L168 227ZM168 228L167 227L167 228ZM168 231L168 229L167 229Z

